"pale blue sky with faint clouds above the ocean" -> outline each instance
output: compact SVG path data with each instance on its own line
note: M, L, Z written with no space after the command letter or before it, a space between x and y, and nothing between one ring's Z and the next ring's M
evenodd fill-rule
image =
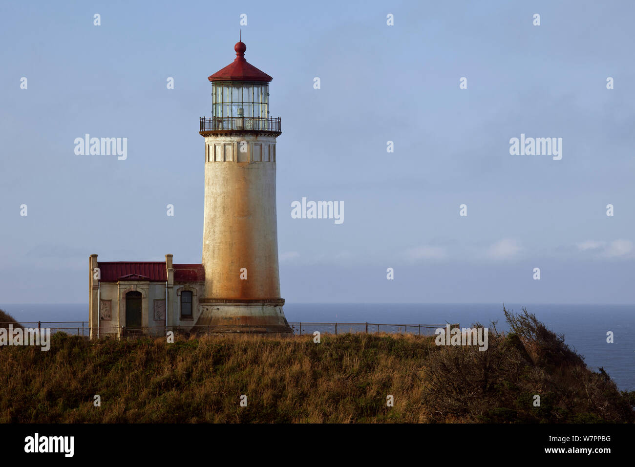
M632 303L634 16L630 1L5 2L0 302L88 301L92 253L201 261L198 118L242 29L282 118L287 301ZM85 133L126 137L128 158L77 156ZM563 158L512 156L521 133L562 138ZM291 219L302 197L344 201L344 222Z

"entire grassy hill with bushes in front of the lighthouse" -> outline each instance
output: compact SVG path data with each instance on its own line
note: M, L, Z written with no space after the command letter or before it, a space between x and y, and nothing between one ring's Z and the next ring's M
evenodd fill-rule
M632 423L635 393L533 315L489 348L434 337L243 335L0 348L0 422ZM100 395L101 407L93 406ZM247 406L241 407L241 395ZM387 407L387 395L394 407ZM534 407L534 395L540 407Z

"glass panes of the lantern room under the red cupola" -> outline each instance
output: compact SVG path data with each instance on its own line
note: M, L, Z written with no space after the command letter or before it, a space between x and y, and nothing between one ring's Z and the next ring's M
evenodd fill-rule
M269 117L269 86L265 83L217 81L211 96L215 118Z

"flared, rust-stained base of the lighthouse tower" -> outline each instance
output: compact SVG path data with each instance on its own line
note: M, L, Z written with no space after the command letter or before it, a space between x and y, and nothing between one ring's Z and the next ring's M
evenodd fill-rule
M201 313L192 331L291 335L293 331L284 316L283 304L284 299L201 299Z

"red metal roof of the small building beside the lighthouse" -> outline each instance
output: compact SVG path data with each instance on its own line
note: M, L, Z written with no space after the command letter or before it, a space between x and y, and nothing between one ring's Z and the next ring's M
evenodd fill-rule
M102 282L168 280L165 261L99 261ZM174 280L199 282L205 280L203 264L173 264Z

